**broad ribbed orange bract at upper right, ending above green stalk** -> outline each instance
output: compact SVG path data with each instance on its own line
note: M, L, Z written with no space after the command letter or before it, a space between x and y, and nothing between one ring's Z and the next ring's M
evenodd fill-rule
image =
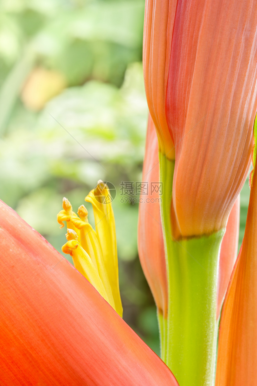
M256 19L255 0L177 2L166 119L175 143L173 204L183 236L225 227L247 177L257 110Z

